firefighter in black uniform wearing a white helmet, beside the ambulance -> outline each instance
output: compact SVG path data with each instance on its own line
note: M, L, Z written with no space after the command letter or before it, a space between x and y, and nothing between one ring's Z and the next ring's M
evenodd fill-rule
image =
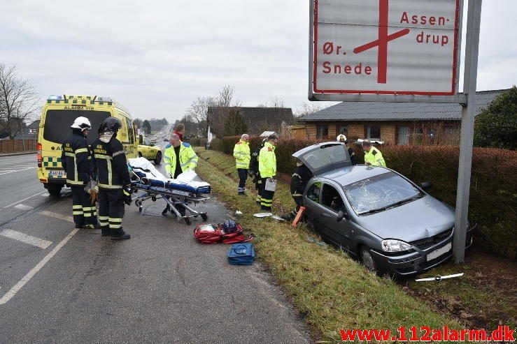
M72 190L73 222L76 228L98 228L97 208L85 191L92 178L92 156L86 142L92 125L86 117L77 117L70 128L72 133L63 142L61 162Z

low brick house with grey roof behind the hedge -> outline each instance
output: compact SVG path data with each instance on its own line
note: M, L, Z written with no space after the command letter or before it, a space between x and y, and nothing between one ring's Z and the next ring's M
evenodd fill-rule
M476 115L508 91L478 91ZM298 121L309 139L367 138L387 144L458 144L462 106L444 103L343 102Z

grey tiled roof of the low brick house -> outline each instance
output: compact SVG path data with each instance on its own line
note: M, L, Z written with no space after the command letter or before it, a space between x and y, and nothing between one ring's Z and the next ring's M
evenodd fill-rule
M476 115L505 91L508 90L478 91ZM461 114L462 106L454 103L343 102L308 114L299 121L457 121L461 119Z

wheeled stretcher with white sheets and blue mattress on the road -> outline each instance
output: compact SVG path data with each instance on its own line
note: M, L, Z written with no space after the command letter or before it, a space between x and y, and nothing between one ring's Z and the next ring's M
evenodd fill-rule
M192 176L195 176L194 172L191 174L180 174L178 179L169 179L158 172L155 166L146 158L129 159L127 165L134 175L131 181L133 192L139 193L139 191L143 191L143 193L134 198L135 205L139 207L139 211L142 211L142 202L149 199L155 202L159 197L162 197L169 204L170 210L176 214L178 221L183 219L187 225L190 225L192 223L191 218L193 217L201 216L203 220L208 218L206 212L196 211L188 205L189 203L197 205L210 199L210 197L206 196L211 191L210 184L204 181L192 180ZM185 209L185 215L180 214L176 207Z

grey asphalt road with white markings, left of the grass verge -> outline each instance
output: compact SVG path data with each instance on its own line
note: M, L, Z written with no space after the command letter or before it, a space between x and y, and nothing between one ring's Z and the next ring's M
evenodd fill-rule
M34 163L0 157L0 343L310 341L259 263L231 266L229 246L194 241L201 219L149 200L126 207L130 240L74 230L69 191L45 196ZM230 216L217 200L198 207L211 223Z

